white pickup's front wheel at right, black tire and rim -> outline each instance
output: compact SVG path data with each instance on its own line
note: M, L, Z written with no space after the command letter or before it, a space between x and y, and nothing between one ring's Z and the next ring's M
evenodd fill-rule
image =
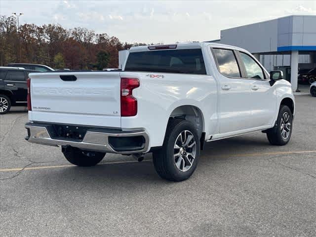
M284 118L285 115L288 116L288 120ZM291 110L286 105L281 105L278 112L276 125L273 128L267 130L267 137L270 144L278 146L283 146L287 144L292 135L292 124L293 115ZM283 130L285 130L284 133Z

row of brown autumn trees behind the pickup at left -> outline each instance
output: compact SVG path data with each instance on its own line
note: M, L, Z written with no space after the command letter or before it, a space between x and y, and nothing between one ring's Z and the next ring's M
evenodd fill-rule
M38 63L57 68L103 69L118 67L118 51L144 43L122 43L106 33L76 27L65 29L59 24L22 24L16 18L0 16L0 65L20 62Z

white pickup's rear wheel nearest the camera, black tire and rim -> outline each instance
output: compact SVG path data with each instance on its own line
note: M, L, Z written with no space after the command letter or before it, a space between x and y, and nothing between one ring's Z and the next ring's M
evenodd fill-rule
M181 137L179 137L180 134L182 134ZM186 138L187 146L184 146L184 143L181 145L182 138ZM194 142L196 144L192 145ZM176 144L179 144L179 148L175 148L178 146ZM175 153L181 155L176 156ZM195 126L188 120L171 118L161 149L153 153L154 166L161 178L177 182L184 181L195 171L199 153L200 141Z

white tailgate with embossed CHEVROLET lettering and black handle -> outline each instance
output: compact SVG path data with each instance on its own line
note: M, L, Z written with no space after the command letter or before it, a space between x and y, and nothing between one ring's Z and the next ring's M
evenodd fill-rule
M119 72L35 73L34 121L120 127Z

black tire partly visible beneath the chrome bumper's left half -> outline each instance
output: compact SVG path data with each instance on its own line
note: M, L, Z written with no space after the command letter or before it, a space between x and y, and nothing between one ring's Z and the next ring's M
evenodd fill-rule
M83 151L75 147L67 147L63 154L70 163L78 166L94 166L105 156L102 152Z

